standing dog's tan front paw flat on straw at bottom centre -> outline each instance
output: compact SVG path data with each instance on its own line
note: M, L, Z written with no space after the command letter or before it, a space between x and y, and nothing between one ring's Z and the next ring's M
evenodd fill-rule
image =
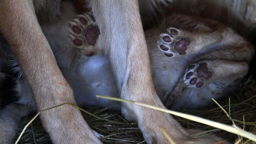
M157 115L157 113L158 112L155 112L154 115ZM201 131L181 127L181 125L178 124L176 120L171 118L169 114L164 114L162 117L157 117L155 118L154 122L145 125L145 127L140 128L143 133L143 137L148 144L170 144L169 140L160 130L160 127L166 131L166 133L176 144L214 144L218 142L228 144L228 142L224 142L223 139L213 134L207 134L197 138L191 137L191 135Z

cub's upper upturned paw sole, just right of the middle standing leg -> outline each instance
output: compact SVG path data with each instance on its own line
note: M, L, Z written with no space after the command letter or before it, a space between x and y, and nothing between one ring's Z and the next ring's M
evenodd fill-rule
M170 27L168 33L160 34L157 41L158 48L168 57L185 55L190 44L188 32Z

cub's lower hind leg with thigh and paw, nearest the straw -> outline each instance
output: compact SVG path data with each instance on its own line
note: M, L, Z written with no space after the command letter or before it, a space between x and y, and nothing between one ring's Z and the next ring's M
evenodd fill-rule
M190 65L174 88L167 107L201 108L237 89L248 71L246 62L205 60Z

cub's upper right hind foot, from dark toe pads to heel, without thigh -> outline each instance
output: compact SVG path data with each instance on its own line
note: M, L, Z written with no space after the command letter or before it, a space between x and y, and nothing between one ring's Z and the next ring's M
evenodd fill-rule
M167 33L160 34L157 46L164 55L173 57L197 53L221 39L221 33L217 31L198 33L170 27Z

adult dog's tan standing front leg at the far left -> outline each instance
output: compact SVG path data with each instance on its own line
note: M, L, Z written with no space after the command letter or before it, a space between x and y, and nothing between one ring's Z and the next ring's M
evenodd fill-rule
M37 22L32 0L1 0L0 20L0 31L13 48L33 91L37 109L65 102L75 104L73 91ZM53 143L101 143L76 108L63 105L43 112L40 117Z

